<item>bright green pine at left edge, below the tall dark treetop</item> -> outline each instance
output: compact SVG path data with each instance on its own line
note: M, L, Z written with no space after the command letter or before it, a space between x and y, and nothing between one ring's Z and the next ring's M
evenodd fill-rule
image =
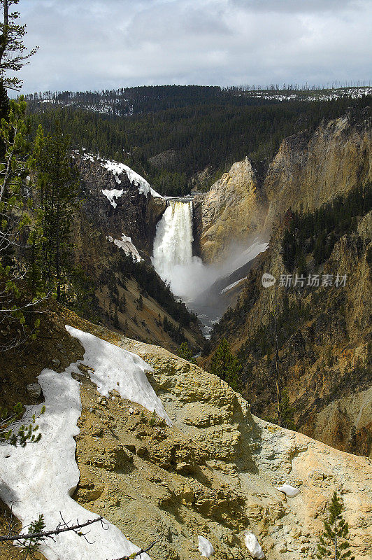
M11 101L7 118L1 119L0 138L3 157L0 160L0 324L15 327L19 335L0 346L12 349L34 337L40 321L32 318L38 290L27 292L29 271L14 258L22 245L27 253L27 231L36 242L36 230L31 228L27 200L29 174L29 132L25 122L26 103ZM31 231L30 231L31 230ZM34 276L31 272L31 276ZM33 280L31 279L31 283ZM32 324L34 323L34 324ZM29 332L27 332L27 330Z

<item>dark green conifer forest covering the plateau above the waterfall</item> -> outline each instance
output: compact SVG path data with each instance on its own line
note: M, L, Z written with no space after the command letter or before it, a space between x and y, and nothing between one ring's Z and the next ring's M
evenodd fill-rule
M166 86L168 87L168 86ZM178 87L178 86L176 86ZM39 124L48 132L58 120L62 131L71 134L74 148L129 165L145 176L162 195L182 196L196 188L209 188L229 167L246 156L259 174L285 137L307 130L313 132L322 119L330 120L371 106L371 96L341 97L331 101L274 102L244 96L219 97L206 94L191 103L187 87L173 94L169 86L166 104L159 111L143 110L132 116L90 111L79 105L29 102L31 130ZM185 92L183 106L178 106ZM164 98L165 99L165 98ZM143 103L158 103L148 97ZM142 103L142 102L141 102ZM161 158L154 156L162 154ZM197 174L208 169L199 184Z

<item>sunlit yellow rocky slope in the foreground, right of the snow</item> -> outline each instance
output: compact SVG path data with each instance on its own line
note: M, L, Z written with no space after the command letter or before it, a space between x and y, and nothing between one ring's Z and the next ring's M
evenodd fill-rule
M252 416L224 381L159 346L119 344L154 368L150 383L173 427L117 395L97 404L96 389L82 374L76 498L85 507L138 545L159 538L153 554L163 559L199 559L198 535L212 542L216 558L246 558L248 530L268 560L298 560L315 558L336 490L352 553L357 560L371 557L369 459ZM300 493L287 498L275 488L283 483Z

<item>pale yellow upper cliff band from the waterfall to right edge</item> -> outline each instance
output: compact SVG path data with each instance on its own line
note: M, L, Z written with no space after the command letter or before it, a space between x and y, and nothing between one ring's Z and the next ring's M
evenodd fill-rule
M231 243L266 239L287 209L313 211L372 180L369 108L322 123L282 141L259 187L250 161L236 162L205 195L194 199L196 237L207 262L222 260Z

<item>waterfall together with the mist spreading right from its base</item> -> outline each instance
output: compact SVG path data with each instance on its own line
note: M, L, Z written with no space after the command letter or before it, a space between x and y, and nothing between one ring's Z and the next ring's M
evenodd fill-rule
M199 315L204 334L208 334L227 308L222 288L231 283L229 276L265 251L268 244L256 238L244 246L231 246L224 262L206 265L192 255L192 241L192 201L170 200L157 225L152 264L173 294ZM224 278L226 283L221 283Z

